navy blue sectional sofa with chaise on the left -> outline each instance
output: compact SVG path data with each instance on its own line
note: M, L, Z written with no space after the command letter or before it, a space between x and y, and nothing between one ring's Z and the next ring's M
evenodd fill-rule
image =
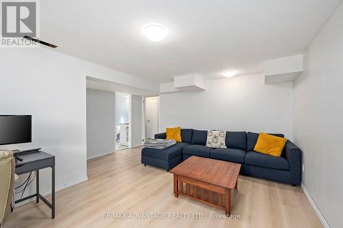
M284 137L283 134L273 134ZM182 142L167 149L143 148L142 164L170 170L192 155L241 164L241 174L260 177L294 186L301 182L301 151L287 141L281 157L265 155L254 151L258 133L246 131L227 131L226 149L206 147L207 131L181 129ZM155 138L166 138L165 133Z

